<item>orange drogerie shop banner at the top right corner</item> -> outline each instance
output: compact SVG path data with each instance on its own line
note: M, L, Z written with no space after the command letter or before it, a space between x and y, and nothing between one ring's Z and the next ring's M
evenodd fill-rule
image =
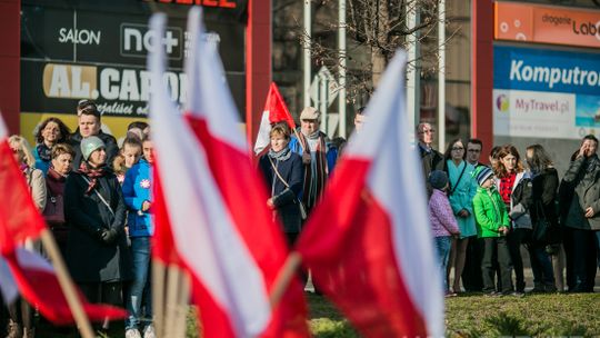
M600 11L516 2L496 2L494 38L600 47Z

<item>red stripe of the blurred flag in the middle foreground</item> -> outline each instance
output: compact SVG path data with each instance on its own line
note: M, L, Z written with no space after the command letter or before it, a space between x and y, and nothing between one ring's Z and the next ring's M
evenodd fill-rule
M286 261L288 250L281 231L278 230L281 226L273 221L272 213L267 208L263 179L247 153L212 137L203 119L193 115L186 117L207 152L210 170L233 223L261 268L270 291ZM306 314L302 287L294 280L280 306L273 311L271 322L261 337L307 337Z

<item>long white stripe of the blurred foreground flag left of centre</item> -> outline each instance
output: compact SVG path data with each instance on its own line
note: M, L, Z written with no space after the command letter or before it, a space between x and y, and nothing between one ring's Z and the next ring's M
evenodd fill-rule
M192 11L199 16L198 9ZM199 18L196 20L199 22ZM164 17L153 16L150 22L157 36L162 36ZM198 50L190 50L194 52ZM153 83L150 105L157 165L177 250L190 272L227 311L238 336L256 336L271 315L261 271L224 207L203 148L183 117L174 113L177 108L160 80L163 60L162 49L149 58ZM196 87L194 92L202 90Z

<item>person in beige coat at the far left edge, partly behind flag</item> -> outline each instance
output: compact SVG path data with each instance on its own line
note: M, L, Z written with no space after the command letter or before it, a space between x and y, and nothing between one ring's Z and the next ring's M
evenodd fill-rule
M29 191L38 210L40 212L46 208L46 179L41 170L34 168L36 159L31 153L29 142L21 136L13 135L9 138L9 146L14 156L14 160L19 163L23 179L29 186ZM26 241L24 247L30 250L39 250L39 245ZM34 337L36 329L33 327L33 311L31 306L23 299L18 299L8 307L9 326L7 337Z

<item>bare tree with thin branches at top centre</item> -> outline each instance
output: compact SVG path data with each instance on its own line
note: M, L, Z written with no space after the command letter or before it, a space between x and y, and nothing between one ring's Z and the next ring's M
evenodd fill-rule
M312 60L317 64L328 66L332 72L338 72L340 54L334 39L338 31L338 1L312 0L316 12L330 8L329 14L314 20L316 29L308 37L298 24L301 46L311 48ZM417 9L419 22L409 27L407 10ZM419 71L427 77L437 71L439 23L439 0L347 0L347 92L351 101L361 101L370 97L379 82L386 66L399 48L406 48L407 37L418 33L422 44L421 68ZM448 21L448 20L447 20ZM446 22L447 23L447 22ZM452 37L454 32L448 34ZM416 60L409 60L413 67Z

